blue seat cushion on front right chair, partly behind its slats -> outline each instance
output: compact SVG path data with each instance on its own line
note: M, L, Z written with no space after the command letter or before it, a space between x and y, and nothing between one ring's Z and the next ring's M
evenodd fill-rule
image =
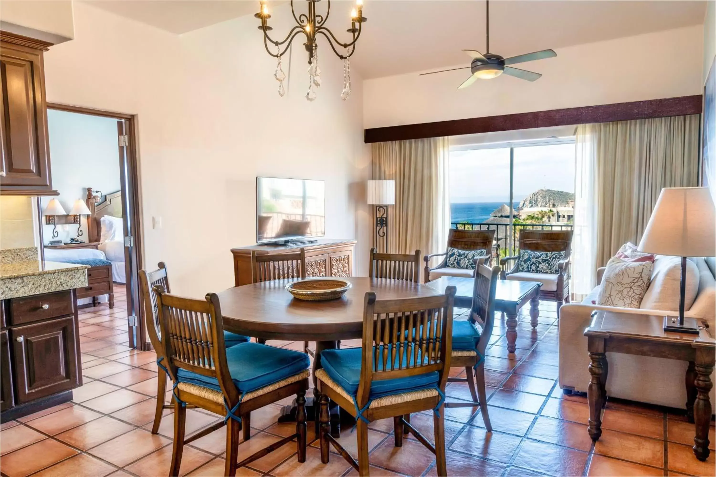
M321 365L326 373L340 385L349 395L358 393L360 382L362 348L346 348L343 350L324 350L321 353ZM382 360L380 361L382 363ZM379 364L380 365L380 364ZM396 378L373 381L370 387L370 399L384 395L405 393L437 384L440 376L437 371L419 374L409 378Z

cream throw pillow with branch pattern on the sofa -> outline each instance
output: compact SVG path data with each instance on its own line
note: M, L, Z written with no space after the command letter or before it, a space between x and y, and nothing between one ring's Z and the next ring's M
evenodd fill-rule
M606 264L597 305L639 308L652 280L652 262L627 262L611 257Z

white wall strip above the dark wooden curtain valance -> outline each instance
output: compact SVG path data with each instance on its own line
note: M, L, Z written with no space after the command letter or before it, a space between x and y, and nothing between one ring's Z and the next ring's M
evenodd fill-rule
M556 49L556 58L516 65L536 82L503 75L457 87L469 70L364 82L364 126L445 121L702 94L703 28ZM455 67L468 66L455 65ZM447 69L447 68L446 68Z

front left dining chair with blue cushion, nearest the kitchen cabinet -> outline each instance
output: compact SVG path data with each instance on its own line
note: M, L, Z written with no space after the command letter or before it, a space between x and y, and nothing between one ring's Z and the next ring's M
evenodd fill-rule
M309 357L305 353L258 343L224 345L221 305L216 293L205 300L170 295L155 287L162 345L174 382L174 444L169 475L178 476L183 448L226 426L226 476L296 439L299 462L306 461L306 390ZM296 433L237 463L239 431L250 426L252 410L296 395ZM225 416L192 436L185 436L186 407Z

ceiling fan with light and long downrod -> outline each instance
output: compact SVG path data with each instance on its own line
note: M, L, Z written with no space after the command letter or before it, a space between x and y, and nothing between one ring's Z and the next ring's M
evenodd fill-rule
M465 53L470 56L473 61L469 67L464 68L453 68L453 69L442 69L439 72L422 73L420 76L425 74L435 74L443 72L453 72L457 69L470 69L472 75L465 79L463 84L460 84L458 89L467 88L470 84L473 84L476 79L491 79L500 76L500 74L509 74L510 76L526 79L527 81L536 81L542 75L535 72L528 72L526 69L513 68L509 65L533 62L536 59L552 58L557 56L553 49L543 49L541 51L534 51L533 53L520 54L518 56L511 56L510 58L503 58L498 54L490 53L490 0L486 2L487 6L487 45L485 54L474 49L464 49Z

